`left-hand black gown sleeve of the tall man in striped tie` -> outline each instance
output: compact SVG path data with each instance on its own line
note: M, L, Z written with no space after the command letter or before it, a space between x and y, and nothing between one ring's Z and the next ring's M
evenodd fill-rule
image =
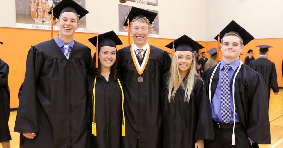
M26 75L15 123L15 132L38 133L36 84L43 67L42 55L32 47L27 56Z

